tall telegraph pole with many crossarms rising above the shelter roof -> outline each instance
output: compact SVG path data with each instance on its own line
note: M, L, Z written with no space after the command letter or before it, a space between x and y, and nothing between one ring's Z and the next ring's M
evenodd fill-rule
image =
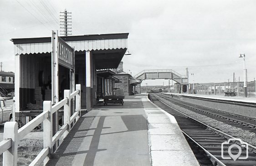
M71 27L71 23L72 23L72 18L71 15L68 14L72 14L71 12L67 12L67 10L65 9L64 12L60 12L60 31L61 31L61 35L67 36L67 35L71 35L72 34L72 27ZM68 30L70 29L70 30Z

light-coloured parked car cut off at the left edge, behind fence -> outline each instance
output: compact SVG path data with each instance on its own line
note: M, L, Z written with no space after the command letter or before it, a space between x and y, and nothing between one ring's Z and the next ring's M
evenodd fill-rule
M12 111L10 107L6 107L5 100L0 97L0 123L10 121Z

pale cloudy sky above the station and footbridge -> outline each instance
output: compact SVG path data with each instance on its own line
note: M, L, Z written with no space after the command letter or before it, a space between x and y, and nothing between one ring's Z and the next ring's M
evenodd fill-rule
M129 33L125 72L173 69L195 83L256 77L256 0L0 0L0 62L14 71L12 38L46 37L59 12L72 12L72 35ZM130 70L130 71L129 71ZM193 82L193 78L189 78ZM167 85L146 80L142 85Z

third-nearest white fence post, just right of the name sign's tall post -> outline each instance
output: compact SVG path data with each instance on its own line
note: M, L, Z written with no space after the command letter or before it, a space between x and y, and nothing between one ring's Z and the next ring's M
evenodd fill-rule
M70 105L71 105L71 98L70 98L70 90L64 90L64 98L68 98L67 104L64 105L64 125L67 124L67 130L64 132L63 137L65 138L70 131Z

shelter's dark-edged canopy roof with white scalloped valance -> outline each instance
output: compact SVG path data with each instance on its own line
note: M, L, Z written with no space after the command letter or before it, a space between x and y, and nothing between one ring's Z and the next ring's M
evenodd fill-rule
M128 33L61 36L75 54L92 51L96 69L117 68L127 50ZM51 37L11 39L14 54L51 53Z

